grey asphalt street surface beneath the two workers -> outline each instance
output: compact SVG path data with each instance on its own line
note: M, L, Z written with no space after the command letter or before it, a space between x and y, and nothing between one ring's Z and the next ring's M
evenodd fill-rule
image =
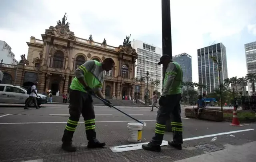
M142 143L149 142L154 135L157 109L150 112L151 107L118 106L118 108L147 123L147 127L142 131ZM106 147L92 150L86 148L84 121L81 116L73 138L73 144L78 147L78 150L69 153L60 149L61 138L69 116L68 105L46 104L40 109L29 110L24 110L23 105L2 105L0 107L0 161L173 162L183 160L180 162L192 162L195 158L202 157L200 160L213 162L210 156L221 157L221 154L228 150L236 152L236 154L226 153L227 157L230 154L230 159L244 157L242 160L246 162L254 162L256 159L256 124L234 127L227 122L188 119L184 116L184 107L182 107L183 150L162 146L160 153L142 149L114 153L110 148L132 144L127 141L129 135L127 123L134 121L106 106L95 106L94 110L97 138L106 142ZM172 133L166 132L164 140L172 140ZM201 146L203 144L204 146ZM135 147L137 146L130 146L132 149ZM228 158L225 162L229 162Z

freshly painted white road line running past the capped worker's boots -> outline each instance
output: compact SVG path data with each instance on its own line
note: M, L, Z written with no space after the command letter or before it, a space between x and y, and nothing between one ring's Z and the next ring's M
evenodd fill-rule
M253 131L253 130L254 129L244 129L244 130L238 130L238 131L222 132L222 133L217 133L217 134L212 134L212 135L204 135L204 136L198 136L198 137L183 139L183 141L203 139L203 138L208 138L208 137L215 137L215 136L220 136L220 135L234 134L234 133L245 132L245 131ZM128 145L114 146L114 147L110 147L110 149L112 150L112 152L115 152L115 153L116 152L131 151L131 150L140 150L140 149L142 149L142 144L148 144L148 142L139 143L139 144L128 144ZM168 145L167 141L163 141L162 144L161 144L161 146L166 146L166 145Z

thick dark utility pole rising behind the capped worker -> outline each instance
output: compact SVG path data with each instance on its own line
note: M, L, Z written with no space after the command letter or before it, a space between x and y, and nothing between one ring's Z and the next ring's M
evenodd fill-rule
M172 29L170 0L162 0L162 55L169 55L172 58ZM165 71L163 66L162 76L164 82ZM163 85L163 84L162 84ZM166 131L172 131L171 121L166 121Z

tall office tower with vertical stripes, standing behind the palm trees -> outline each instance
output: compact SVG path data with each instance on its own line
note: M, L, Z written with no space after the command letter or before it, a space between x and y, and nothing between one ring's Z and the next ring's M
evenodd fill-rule
M221 64L220 82L228 78L226 47L222 43L198 49L199 84L206 85L206 88L198 88L199 94L214 92L215 88L219 88L218 65L210 56L215 57Z

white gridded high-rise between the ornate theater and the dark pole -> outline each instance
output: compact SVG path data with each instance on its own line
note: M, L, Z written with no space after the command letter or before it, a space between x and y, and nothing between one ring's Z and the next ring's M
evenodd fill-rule
M136 49L138 59L136 60L135 77L140 79L145 77L147 71L149 72L150 81L160 80L160 85L156 87L158 92L162 88L162 68L157 63L162 56L162 49L154 45L149 45L142 41L132 41L132 48Z

